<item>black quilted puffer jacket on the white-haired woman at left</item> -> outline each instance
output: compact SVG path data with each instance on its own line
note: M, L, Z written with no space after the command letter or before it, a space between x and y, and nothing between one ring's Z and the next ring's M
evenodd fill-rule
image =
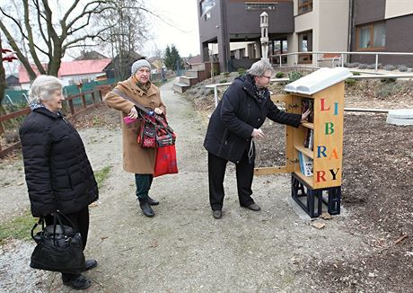
M98 199L98 186L76 129L45 108L20 129L31 214L75 213Z

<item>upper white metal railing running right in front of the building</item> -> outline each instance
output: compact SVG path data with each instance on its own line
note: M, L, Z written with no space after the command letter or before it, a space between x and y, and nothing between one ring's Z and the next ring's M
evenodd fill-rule
M279 67L283 67L283 56L294 56L294 65L298 65L298 58L300 55L312 55L312 58L315 56L315 67L319 67L319 62L324 61L324 55L336 55L332 56L331 61L332 64L334 60L337 60L341 63L341 67L344 67L344 59L345 57L349 57L351 55L373 55L375 56L375 66L374 71L377 72L379 66L379 57L381 55L395 55L395 56L411 56L413 58L413 53L407 52L347 52L347 51L311 51L311 52L294 52L294 53L285 53L285 54L276 54L269 56L270 58L278 58L279 59ZM320 58L321 57L321 58Z

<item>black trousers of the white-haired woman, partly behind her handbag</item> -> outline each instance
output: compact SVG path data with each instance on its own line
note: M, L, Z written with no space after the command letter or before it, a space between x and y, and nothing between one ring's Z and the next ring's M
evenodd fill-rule
M89 233L89 207L85 207L81 210L79 210L76 213L72 214L64 214L67 218L69 218L72 223L73 227L80 232L80 235L82 235L82 243L83 243L83 250L84 247L86 247L87 243L87 235ZM63 224L67 226L72 226L70 223L66 223L66 220L64 217L61 217ZM53 216L46 216L46 225L53 225ZM62 277L67 279L70 279L72 274L68 273L62 273Z

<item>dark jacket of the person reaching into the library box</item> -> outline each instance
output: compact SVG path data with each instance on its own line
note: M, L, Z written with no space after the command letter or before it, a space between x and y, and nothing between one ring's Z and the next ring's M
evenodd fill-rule
M300 125L301 115L278 110L266 90L265 100L259 102L251 75L237 77L228 87L209 120L204 147L216 156L238 163L250 146L253 129L270 120L294 127Z

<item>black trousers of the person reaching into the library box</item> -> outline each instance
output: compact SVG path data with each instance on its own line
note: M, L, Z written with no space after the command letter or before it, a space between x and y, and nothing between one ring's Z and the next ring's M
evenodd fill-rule
M250 195L255 166L255 147L251 157L248 154L249 148L242 155L240 163L235 164L238 199L242 207L248 207L254 203ZM228 160L208 153L209 203L212 210L223 209L224 176L227 163Z

